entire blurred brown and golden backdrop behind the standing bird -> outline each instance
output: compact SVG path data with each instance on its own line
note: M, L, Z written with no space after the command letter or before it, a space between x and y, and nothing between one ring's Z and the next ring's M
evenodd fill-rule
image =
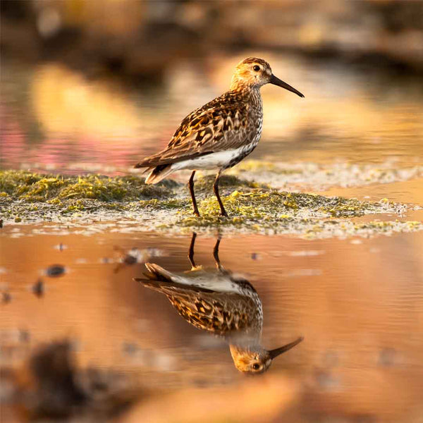
M422 1L4 0L0 166L128 168L252 55L306 96L253 158L422 157Z

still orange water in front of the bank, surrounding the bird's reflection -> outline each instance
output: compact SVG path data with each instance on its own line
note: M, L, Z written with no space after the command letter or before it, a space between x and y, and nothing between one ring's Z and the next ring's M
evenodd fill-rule
M144 387L193 390L195 398L204 389L226 395L253 383L235 369L224 341L191 326L164 295L133 281L145 273L144 262L189 270L189 235L56 236L33 235L32 229L23 226L18 238L9 236L14 228L2 230L1 279L11 294L1 306L4 346L18 342L18 331L29 333L30 348L70 337L81 367L129 372ZM196 264L214 266L214 243L197 237ZM134 247L137 262L123 263ZM269 396L277 396L271 384L287 392L272 403L274 418L413 422L421 415L422 250L422 233L369 240L223 238L221 264L250 281L262 300L262 345L305 338L276 358L260 376L264 382L256 376ZM66 273L45 276L51 264L65 266ZM31 287L39 278L44 293L35 295ZM6 348L4 364L18 365L27 349L26 343ZM180 415L171 393L165 403ZM261 403L259 397L249 405L252 421L267 421L257 417ZM144 407L128 419L142 419ZM234 405L221 412L233 415ZM156 414L154 421L173 421L164 410Z

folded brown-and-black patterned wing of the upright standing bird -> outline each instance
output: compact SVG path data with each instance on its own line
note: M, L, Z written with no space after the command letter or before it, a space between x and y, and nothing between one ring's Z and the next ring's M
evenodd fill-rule
M166 149L147 157L135 167L171 164L241 147L254 137L255 131L248 130L248 114L247 102L239 94L226 92L189 114Z

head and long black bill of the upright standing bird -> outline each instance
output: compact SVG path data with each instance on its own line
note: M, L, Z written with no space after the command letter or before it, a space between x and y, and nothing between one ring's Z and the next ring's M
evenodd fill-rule
M244 59L235 68L231 81L231 90L236 90L240 87L262 87L265 84L278 85L278 87L285 88L290 92L294 92L300 97L304 97L301 92L295 90L286 82L283 82L279 78L271 73L271 67L263 59L257 59L256 57L249 57Z

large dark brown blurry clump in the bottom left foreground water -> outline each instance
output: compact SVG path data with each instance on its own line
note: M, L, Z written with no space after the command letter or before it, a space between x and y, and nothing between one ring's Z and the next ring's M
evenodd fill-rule
M8 404L30 421L73 418L104 422L140 399L142 391L104 369L80 369L71 341L40 345L23 367L7 374ZM56 421L56 420L55 420ZM72 420L74 421L74 420Z

